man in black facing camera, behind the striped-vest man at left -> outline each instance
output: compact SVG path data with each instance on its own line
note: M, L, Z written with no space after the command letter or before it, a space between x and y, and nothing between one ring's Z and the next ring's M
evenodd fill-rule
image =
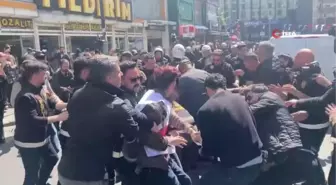
M51 86L62 101L67 102L72 91L73 74L70 71L70 62L61 59L60 68L53 75Z

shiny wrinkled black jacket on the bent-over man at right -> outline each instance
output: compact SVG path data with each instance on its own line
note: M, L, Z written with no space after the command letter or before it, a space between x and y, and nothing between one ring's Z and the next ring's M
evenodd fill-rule
M292 148L302 147L299 127L278 95L267 92L250 108L264 148L274 160Z

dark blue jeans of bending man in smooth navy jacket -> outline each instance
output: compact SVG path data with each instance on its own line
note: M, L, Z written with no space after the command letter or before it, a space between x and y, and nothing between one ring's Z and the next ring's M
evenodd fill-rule
M249 185L259 175L260 165L246 168L224 168L221 164L213 164L202 175L200 185Z

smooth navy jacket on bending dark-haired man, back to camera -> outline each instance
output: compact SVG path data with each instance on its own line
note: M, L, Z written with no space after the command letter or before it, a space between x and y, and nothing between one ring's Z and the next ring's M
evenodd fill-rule
M198 111L202 153L220 158L225 168L243 165L261 155L254 118L237 94L218 92Z

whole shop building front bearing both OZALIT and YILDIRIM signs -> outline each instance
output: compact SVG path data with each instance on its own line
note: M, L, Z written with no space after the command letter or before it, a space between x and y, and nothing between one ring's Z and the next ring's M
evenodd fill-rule
M106 19L108 48L137 46L147 50L145 25L133 22L130 0L105 1L102 6L100 0L24 1L0 0L0 37L3 43L13 45L18 55L28 47L49 53L59 46L68 52L97 48L97 38L102 35L101 13Z

